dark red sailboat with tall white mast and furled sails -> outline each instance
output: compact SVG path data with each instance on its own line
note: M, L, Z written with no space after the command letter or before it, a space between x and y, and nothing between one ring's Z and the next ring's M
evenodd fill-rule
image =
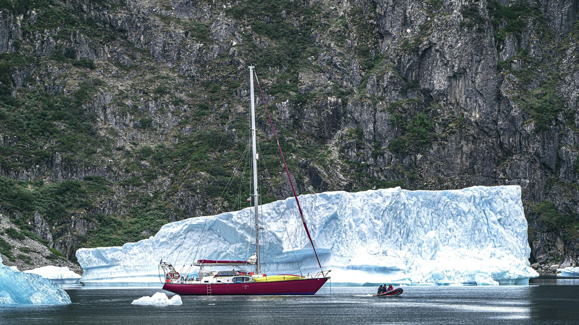
M171 291L176 294L190 294L190 295L214 295L214 294L316 294L318 290L329 280L329 272L324 271L321 267L320 259L316 253L316 248L307 228L306 219L303 216L302 208L299 204L298 195L294 189L294 183L291 180L290 172L279 141L277 140L276 130L273 127L269 110L263 97L263 91L259 85L259 80L254 72L254 66L250 66L250 110L251 110L251 145L252 145L252 163L253 163L253 192L254 201L254 220L255 220L255 253L247 258L247 260L209 260L201 259L196 263L192 263L199 267L199 276L197 278L189 278L189 276L181 276L175 270L173 265L161 262L160 269L163 270L164 284L163 289ZM259 234L263 227L259 226L259 195L258 195L258 175L257 175L257 160L258 153L256 150L255 139L255 97L254 97L254 75L258 82L259 92L265 105L267 116L269 117L270 125L272 126L273 135L276 138L277 146L281 154L281 159L284 163L285 172L287 172L290 180L292 191L294 192L295 201L297 203L299 213L302 219L303 227L306 231L307 237L312 244L314 254L320 271L308 273L306 275L300 274L277 274L266 275L262 274L261 260L259 256ZM248 200L251 201L251 200ZM229 267L228 271L212 271L213 267Z

